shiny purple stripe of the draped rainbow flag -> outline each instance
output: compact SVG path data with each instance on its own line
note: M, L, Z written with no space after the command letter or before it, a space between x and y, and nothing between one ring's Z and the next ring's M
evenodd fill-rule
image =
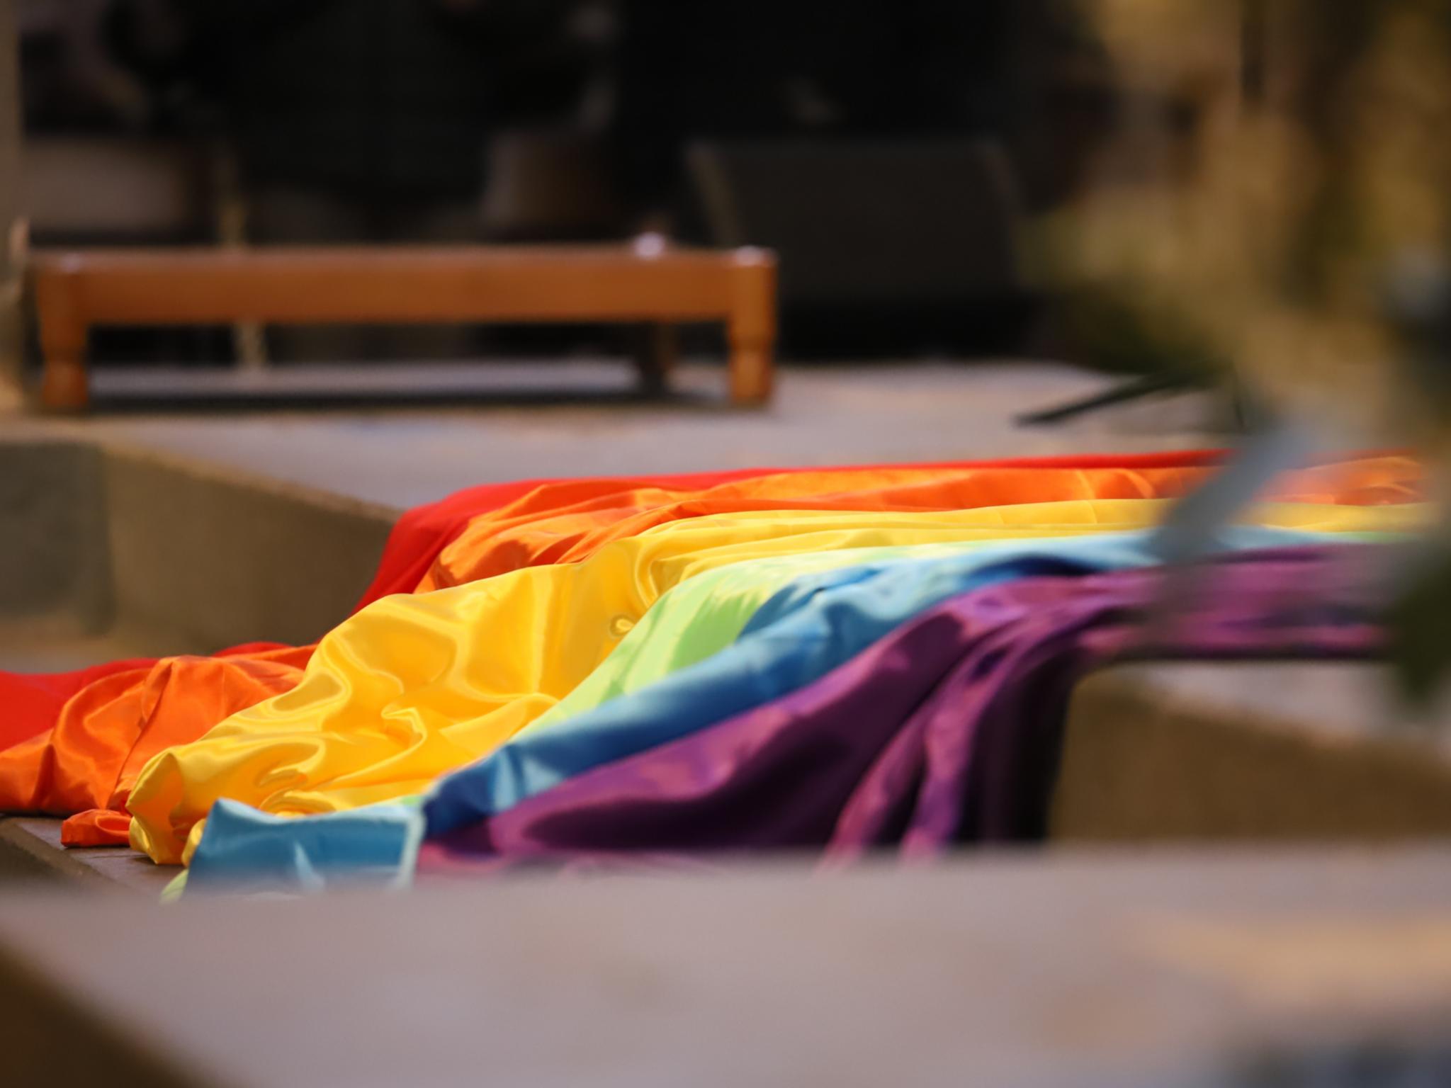
M1354 550L1204 564L1204 592L1172 624L1143 621L1155 569L952 598L808 688L427 841L416 872L781 849L847 862L1042 838L1068 696L1088 670L1377 656L1381 595Z

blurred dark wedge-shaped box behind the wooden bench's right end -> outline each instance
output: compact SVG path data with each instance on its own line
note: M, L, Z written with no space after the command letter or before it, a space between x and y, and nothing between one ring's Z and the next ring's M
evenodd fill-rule
M874 318L978 322L1024 296L1011 165L991 141L696 144L688 171L712 245L781 254L785 335ZM972 335L969 334L969 339Z

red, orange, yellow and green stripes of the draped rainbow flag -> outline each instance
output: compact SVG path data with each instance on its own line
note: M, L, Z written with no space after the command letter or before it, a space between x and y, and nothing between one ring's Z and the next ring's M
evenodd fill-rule
M174 860L196 844L216 798L289 815L387 802L517 735L698 664L769 617L757 608L778 589L804 585L808 570L850 566L844 553L971 550L991 538L1138 528L1222 460L1219 451L1187 451L746 469L459 492L400 518L354 618L325 640L325 662L312 660L312 646L248 644L67 675L0 673L0 811L67 815L67 844L135 836ZM1277 485L1286 500L1277 524L1339 531L1370 516L1376 528L1367 531L1397 531L1419 519L1422 489L1421 467L1399 454L1332 461ZM694 602L682 592L678 606L656 615L662 593L750 563L760 566L749 579L723 576ZM591 574L515 579L550 564ZM604 576L607 569L614 573ZM607 583L634 589L615 593ZM460 611L409 608L398 596L479 585L489 590ZM390 619L354 638L354 621L374 606ZM472 638L461 634L470 624L483 628ZM625 653L615 657L617 648ZM370 708L361 727L329 733L329 715L348 706ZM225 749L193 747L252 712L267 722L257 737L247 740L244 725ZM289 733L286 721L297 715L321 715L322 728ZM168 782L186 785L168 794ZM132 824L138 789L149 808Z

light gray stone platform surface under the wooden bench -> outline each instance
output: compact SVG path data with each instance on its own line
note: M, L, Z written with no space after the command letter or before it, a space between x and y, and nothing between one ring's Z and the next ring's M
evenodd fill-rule
M177 380L174 371L102 370L97 387L154 393ZM624 364L591 361L293 368L263 379L263 392L459 389L503 399L457 408L363 403L331 411L97 413L30 425L161 448L392 506L528 477L1143 451L1225 441L1207 426L1212 405L1204 396L1145 402L1055 429L1016 426L1019 412L1107 383L1056 364L786 367L775 402L762 411L727 406L718 367L682 367L675 377L681 396L662 403L621 399L631 380ZM196 377L181 382L197 392ZM258 393L257 379L248 376L207 382ZM535 390L566 399L517 402L519 393ZM591 393L614 399L591 402Z

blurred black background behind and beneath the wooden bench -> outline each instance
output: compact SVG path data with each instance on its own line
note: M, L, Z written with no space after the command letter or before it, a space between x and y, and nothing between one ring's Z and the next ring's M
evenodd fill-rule
M643 229L765 244L781 252L794 357L1032 350L1042 299L1016 268L1017 226L1075 191L1114 110L1101 49L1053 0L23 0L20 12L38 245ZM86 171L93 184L46 180ZM379 354L557 351L607 334L469 335ZM303 337L271 354L369 354L360 344ZM231 351L221 332L118 332L102 348L112 360Z

